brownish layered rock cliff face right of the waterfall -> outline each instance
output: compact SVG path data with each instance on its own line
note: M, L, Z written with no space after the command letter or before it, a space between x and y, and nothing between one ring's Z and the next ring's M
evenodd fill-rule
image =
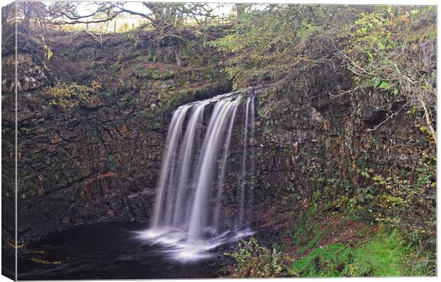
M373 189L366 173L418 178L409 175L422 166L423 152L435 149L420 130L422 114L413 114L408 101L378 91L341 94L336 90L354 89L351 74L331 46L311 49L327 62L301 65L259 96L255 226L276 233L314 197L326 199L322 208L329 212L348 204L334 202L339 195L363 205L363 191Z

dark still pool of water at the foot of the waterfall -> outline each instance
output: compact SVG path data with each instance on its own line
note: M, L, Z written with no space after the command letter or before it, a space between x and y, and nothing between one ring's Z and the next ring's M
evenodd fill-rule
M231 263L221 254L237 244L221 246L218 255L198 262L170 261L160 246L134 239L147 229L139 222L80 226L52 234L21 251L18 279L149 279L217 278Z

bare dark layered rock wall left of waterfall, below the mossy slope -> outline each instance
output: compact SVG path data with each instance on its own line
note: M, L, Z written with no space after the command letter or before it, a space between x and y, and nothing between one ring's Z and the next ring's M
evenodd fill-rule
M146 218L164 132L149 130L145 119L122 114L112 99L54 110L41 97L39 87L48 81L38 65L20 67L18 232L22 238L85 222ZM4 99L13 99L14 92L8 90ZM13 111L4 108L4 131L13 130Z

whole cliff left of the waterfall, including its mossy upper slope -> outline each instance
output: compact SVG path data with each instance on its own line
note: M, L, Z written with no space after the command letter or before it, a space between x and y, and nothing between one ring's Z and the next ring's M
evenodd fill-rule
M167 123L176 107L168 106L169 101L164 101L156 93L179 85L174 72L182 69L176 65L178 48L174 43L170 44L157 47L152 51L154 58L147 59L147 54L142 54L150 52L151 48L145 51L145 45L133 47L110 40L107 45L97 48L90 47L90 42L80 38L76 45L66 42L54 48L54 58L46 70L41 60L19 50L19 240L37 239L49 232L85 223L147 222L161 167ZM138 55L131 55L127 49ZM129 72L127 80L133 85L124 85L127 80L117 77L112 73L115 70L109 68L122 51L128 53L124 54L127 57L119 58L127 63L127 68L121 67L121 71ZM76 52L81 52L84 57L78 59ZM140 60L140 56L144 57ZM85 67L85 61L91 58L106 60L107 65L100 62L103 65L96 66L95 70L95 66ZM15 188L14 55L2 58L2 68L2 160L4 167L10 168L4 170L2 181L4 202L11 205L5 205L9 207L6 214L12 219ZM100 80L102 92L93 101L73 98L78 99L75 107L53 105L53 97L45 92L48 87L57 87L52 82L53 77L65 83L75 81L78 85ZM178 104L228 92L228 81L220 79L207 84L204 81L193 83L194 80L198 78L187 81L188 88L182 94L184 100L178 100ZM112 88L115 82L117 86ZM5 232L4 237L13 238L14 222L5 222L11 226L7 226L9 232Z

